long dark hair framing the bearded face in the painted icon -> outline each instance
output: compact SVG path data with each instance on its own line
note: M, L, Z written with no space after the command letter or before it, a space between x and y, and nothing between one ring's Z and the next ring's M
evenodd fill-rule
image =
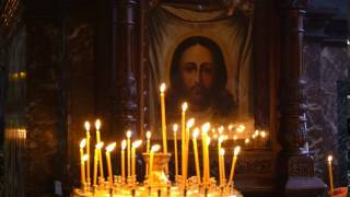
M174 92L182 93L182 90L183 90L183 80L179 73L180 57L187 48L197 44L208 48L213 55L215 80L212 84L212 90L225 89L225 85L228 82L228 71L226 71L225 61L220 47L214 42L212 42L207 37L192 36L183 40L174 51L172 65L170 69L171 86L173 88Z

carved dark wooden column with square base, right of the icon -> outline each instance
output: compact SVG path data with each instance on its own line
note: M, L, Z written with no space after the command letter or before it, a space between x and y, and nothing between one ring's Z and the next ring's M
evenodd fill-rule
M314 162L302 151L305 113L303 88L303 16L307 0L280 2L282 43L280 68L279 194L284 196L317 196L325 192L324 183L314 176Z

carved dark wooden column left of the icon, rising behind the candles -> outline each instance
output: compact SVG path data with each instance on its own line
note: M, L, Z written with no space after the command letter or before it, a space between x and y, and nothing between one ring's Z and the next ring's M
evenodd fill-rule
M113 0L112 129L117 137L138 128L139 3Z

